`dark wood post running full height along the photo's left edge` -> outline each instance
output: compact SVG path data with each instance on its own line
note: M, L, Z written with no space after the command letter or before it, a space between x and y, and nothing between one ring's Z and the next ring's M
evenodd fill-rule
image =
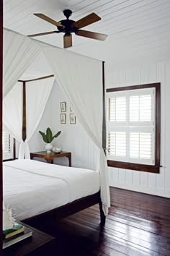
M3 200L3 189L2 189L2 84L3 84L3 1L0 1L0 136L1 136L1 143L0 143L0 158L1 158L1 174L0 174L0 255L2 255L2 200Z

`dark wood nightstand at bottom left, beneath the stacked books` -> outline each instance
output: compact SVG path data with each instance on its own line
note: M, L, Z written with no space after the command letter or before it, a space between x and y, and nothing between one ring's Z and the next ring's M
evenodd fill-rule
M19 223L21 223L19 221ZM28 226L25 223L21 223L27 228L32 229L32 236L24 239L16 244L12 244L10 247L3 249L3 256L34 256L34 255L45 255L46 252L48 255L52 255L53 252L53 244L55 244L55 238L48 234L45 234L42 231L39 231L32 226ZM43 252L43 253L42 253ZM55 255L55 254L54 254Z

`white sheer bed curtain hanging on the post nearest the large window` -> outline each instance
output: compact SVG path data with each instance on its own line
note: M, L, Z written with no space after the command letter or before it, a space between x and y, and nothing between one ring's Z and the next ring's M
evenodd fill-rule
M103 210L107 215L110 198L107 159L102 149L102 61L60 48L42 49L81 126L99 148L97 171L101 176Z

